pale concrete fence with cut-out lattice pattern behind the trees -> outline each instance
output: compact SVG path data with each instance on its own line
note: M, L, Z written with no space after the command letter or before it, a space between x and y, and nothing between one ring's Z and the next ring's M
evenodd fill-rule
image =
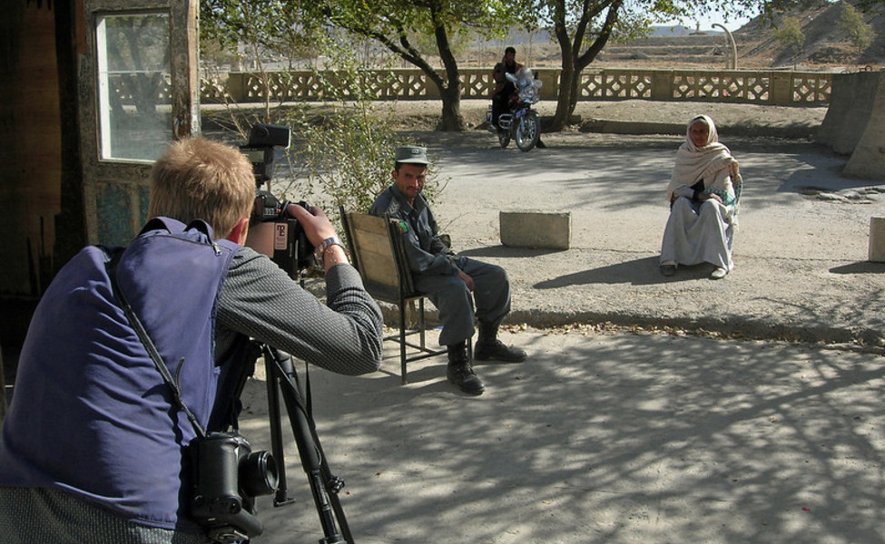
M560 70L540 69L536 77L543 100L556 100ZM490 70L459 72L461 97L487 99L494 83ZM327 85L346 91L334 72L227 73L203 78L202 102L317 102L329 100ZM437 86L419 70L365 71L359 87L377 100L438 100ZM579 101L660 100L749 102L820 106L830 101L831 74L750 70L585 70L578 85ZM122 97L125 102L125 97Z

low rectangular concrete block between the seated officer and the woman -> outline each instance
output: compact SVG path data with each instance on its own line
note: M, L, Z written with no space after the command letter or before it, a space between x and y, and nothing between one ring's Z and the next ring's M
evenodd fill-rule
M500 222L505 246L568 249L572 241L570 212L502 211Z

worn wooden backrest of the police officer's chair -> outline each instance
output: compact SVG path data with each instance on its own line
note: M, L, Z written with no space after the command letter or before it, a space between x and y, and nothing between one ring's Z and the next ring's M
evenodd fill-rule
M406 248L398 224L389 218L340 208L350 259L371 296L399 303L414 295Z

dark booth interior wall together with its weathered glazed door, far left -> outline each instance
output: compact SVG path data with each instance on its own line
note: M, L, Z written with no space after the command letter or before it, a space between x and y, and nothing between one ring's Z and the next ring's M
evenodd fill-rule
M152 162L200 130L197 0L10 0L0 30L0 342L60 267L124 245Z

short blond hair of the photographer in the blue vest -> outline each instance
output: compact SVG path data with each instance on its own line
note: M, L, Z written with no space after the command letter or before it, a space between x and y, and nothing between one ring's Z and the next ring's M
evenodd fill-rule
M197 137L172 143L151 170L151 217L209 223L214 238L249 217L255 201L251 162L239 151Z

